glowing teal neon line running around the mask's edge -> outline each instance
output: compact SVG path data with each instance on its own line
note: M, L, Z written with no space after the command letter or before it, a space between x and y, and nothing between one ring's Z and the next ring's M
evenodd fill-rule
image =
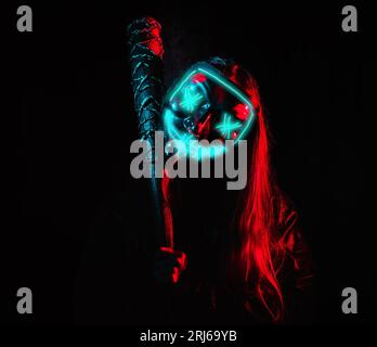
M245 93L243 93L236 86L234 86L234 83L231 82L226 77L222 77L221 73L220 72L218 73L214 67L208 65L207 63L198 63L198 64L196 64L196 66L193 66L184 75L184 77L182 78L182 81L171 92L171 95L169 98L169 103L172 102L172 100L174 99L177 93L182 89L182 87L187 82L187 80L193 75L197 74L198 72L205 74L205 76L214 80L218 85L222 86L225 90L227 90L230 93L232 93L234 97L236 97L238 100L240 100L244 104L246 104L248 106L249 117L248 117L247 121L245 123L244 128L239 132L238 137L234 140L234 143L236 144L238 142L238 140L242 140L246 136L248 130L250 129L250 126L256 118L255 108L253 108L251 102L249 101L249 99L245 95ZM168 115L165 113L162 115L162 117L164 117L164 120L167 125L167 131L169 133L169 137L171 139L187 141L187 139L184 139L185 134L180 134L178 132L177 128L173 126L173 113L171 111L169 111ZM217 147L217 149L219 149L219 147ZM222 146L222 151L217 151L217 149L216 149L216 152L219 152L219 153L214 153L214 156L217 156L220 153L225 152L226 147ZM204 153L202 152L202 157L203 157L203 154Z

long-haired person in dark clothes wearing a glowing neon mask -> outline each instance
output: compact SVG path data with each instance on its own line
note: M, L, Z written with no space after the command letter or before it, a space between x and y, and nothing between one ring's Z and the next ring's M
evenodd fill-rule
M226 85L206 80L210 74L194 74L186 82L193 86L186 87L199 89L191 98L197 104L187 107L182 98L188 89L177 91L177 85L185 85L176 83L168 95L181 92L182 100L178 106L174 98L166 101L165 129L169 138L186 132L190 139L223 141L237 140L240 129L249 126L243 132L248 141L247 184L231 191L222 179L169 179L166 175L165 220L174 248L158 249L155 278L173 286L172 321L297 321L300 314L291 308L301 305L312 270L297 213L271 168L268 123L257 82L232 61L214 57L207 64L227 79L232 90L237 88L248 98L253 114L247 112L247 104L229 95ZM205 111L195 113L196 106ZM224 114L234 120L231 131L219 126ZM249 124L251 116L255 119Z

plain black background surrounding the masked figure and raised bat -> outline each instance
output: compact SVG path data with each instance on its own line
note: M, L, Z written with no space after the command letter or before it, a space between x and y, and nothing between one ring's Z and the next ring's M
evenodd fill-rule
M317 266L315 322L375 322L370 9L358 7L360 31L343 33L343 3L28 4L32 33L16 30L16 3L6 22L16 85L3 116L17 121L11 142L17 208L2 237L5 322L75 322L75 287L91 247L99 265L112 259L120 268L99 269L118 277L110 283L104 278L104 295L122 295L116 284L127 282L123 236L110 223L100 237L93 230L101 216L119 217L113 209L139 230L148 207L129 174L138 132L126 27L141 15L162 24L168 82L211 55L234 57L255 75L274 134L278 181L297 205ZM30 316L16 312L21 286L32 290ZM347 286L358 290L359 314L341 312Z

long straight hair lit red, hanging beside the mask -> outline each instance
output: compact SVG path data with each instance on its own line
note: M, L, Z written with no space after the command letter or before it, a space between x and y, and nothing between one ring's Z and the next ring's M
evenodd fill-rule
M287 201L272 174L270 134L259 89L253 77L232 61L214 57L209 63L246 92L257 113L252 137L248 141L251 143L248 151L248 180L234 211L234 226L230 228L233 235L227 273L230 277L237 277L236 282L243 291L243 304L249 312L256 313L257 299L271 319L277 322L284 313L278 272L287 249L280 227L287 209ZM162 179L165 218L167 228L172 233L168 187L169 179Z

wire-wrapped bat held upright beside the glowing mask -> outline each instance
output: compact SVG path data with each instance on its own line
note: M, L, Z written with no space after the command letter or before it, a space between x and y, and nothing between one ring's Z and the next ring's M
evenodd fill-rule
M155 131L160 128L161 100L165 93L164 47L161 26L152 17L133 21L128 26L131 83L134 110L139 116L141 138L151 144L151 188L155 203L157 236L160 245L172 247L172 235L166 233L162 218L160 180L155 176Z

